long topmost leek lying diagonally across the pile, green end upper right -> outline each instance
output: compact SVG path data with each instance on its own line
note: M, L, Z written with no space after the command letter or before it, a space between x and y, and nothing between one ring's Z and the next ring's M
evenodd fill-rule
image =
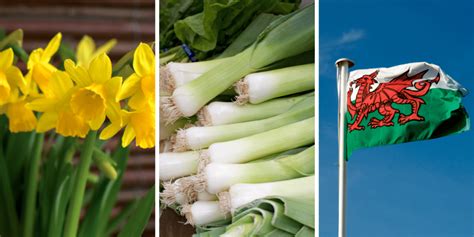
M183 86L161 103L166 122L196 114L205 104L245 75L281 59L314 48L314 7L306 7L272 22L249 48L224 58L215 68Z

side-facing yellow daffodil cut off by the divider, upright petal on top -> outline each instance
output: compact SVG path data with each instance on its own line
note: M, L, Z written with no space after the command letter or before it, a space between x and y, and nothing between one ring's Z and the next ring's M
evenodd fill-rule
M155 103L155 54L147 44L140 43L133 55L135 73L124 81L117 100L131 97L128 105L140 110L147 103Z

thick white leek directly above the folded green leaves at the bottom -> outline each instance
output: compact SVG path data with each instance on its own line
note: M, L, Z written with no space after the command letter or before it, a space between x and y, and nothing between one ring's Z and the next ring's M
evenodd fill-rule
M229 192L219 194L221 210L234 212L257 199L278 196L297 200L314 200L313 176L258 184L234 184Z

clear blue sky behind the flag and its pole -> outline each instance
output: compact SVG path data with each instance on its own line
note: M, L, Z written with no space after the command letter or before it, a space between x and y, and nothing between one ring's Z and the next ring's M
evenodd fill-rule
M320 0L320 236L337 236L334 62L353 69L427 61L471 90L474 2ZM474 236L474 131L354 152L348 162L348 237Z

